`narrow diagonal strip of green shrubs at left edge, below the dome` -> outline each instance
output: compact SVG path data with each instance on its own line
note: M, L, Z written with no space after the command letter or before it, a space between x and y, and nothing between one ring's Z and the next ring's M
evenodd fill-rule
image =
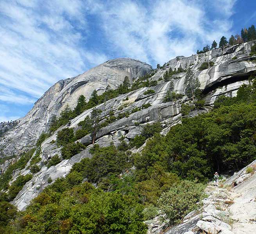
M0 190L6 190L8 188L8 182L12 179L13 172L16 169L25 168L27 162L34 154L34 151L35 149L31 149L27 152L24 152L23 154L21 154L18 161L15 161L13 164L9 165L5 172L0 176Z

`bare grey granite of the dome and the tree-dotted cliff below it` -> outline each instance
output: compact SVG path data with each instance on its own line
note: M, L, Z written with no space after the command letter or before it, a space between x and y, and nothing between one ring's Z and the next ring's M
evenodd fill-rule
M100 146L107 146L111 142L118 145L120 137L124 137L125 141L129 142L131 138L140 134L144 124L155 121L162 123L164 126L162 133L165 134L170 126L181 121L181 104L188 101L184 93L184 78L186 73L177 74L179 77L173 80L175 91L183 94L183 98L175 102L164 103L163 98L169 89L170 82L164 82L161 78L170 67L172 69L178 69L179 67L186 69L187 67L191 67L195 76L199 78L206 102L204 108L190 113L191 116L208 111L215 99L221 94L235 96L238 88L243 83L249 83L249 76L256 71L256 60L249 55L251 46L254 43L256 41L226 48L218 48L209 51L209 54L203 53L187 58L182 56L176 57L166 62L165 66L158 69L150 78L157 80L158 85L134 90L98 105L97 108L102 110L102 119L109 116L110 110L113 110L115 115L129 111L129 117L118 119L100 129L97 134L96 143ZM200 71L199 67L203 62L208 61L208 57L210 61L214 62L214 66ZM109 60L74 78L57 82L35 103L35 106L20 123L14 129L8 131L4 135L4 138L1 138L0 147L3 149L5 155L12 153L18 155L26 147L34 144L39 135L47 130L50 118L53 115L58 115L67 103L73 108L76 105L79 95L83 94L88 98L94 89L100 93L104 91L107 85L110 85L114 89L122 83L125 76L129 76L132 82L132 78L143 76L150 70L151 66L138 60L118 58ZM145 95L144 92L148 89L153 89L155 93ZM128 100L126 100L126 97L128 97ZM151 105L149 108L131 113L133 108L141 107L148 103ZM121 105L124 106L122 110L118 108ZM72 119L68 127L74 128L74 130L79 129L78 123L84 120L90 113L91 109L81 113L81 115ZM56 140L57 132L65 127L67 126L59 128L51 137L42 143L41 161L38 163L41 166L41 170L33 174L33 178L25 184L13 200L13 204L18 209L25 209L30 200L36 197L48 185L48 177L51 177L55 181L58 177L66 176L74 163L80 161L82 158L91 156L89 149L92 139L90 135L87 135L78 140L87 146L84 151L50 168L44 165L43 162L55 154L60 155L60 147L56 143L52 143L52 140ZM140 151L142 147L134 149L133 152ZM28 169L29 163L27 163L25 169L16 170L13 173L13 180L15 180L18 174L25 175L31 173Z

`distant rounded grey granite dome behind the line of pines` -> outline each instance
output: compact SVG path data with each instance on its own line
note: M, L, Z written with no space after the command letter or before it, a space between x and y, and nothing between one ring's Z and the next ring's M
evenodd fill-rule
M94 89L104 92L107 85L115 89L125 76L132 78L144 76L152 67L131 58L108 60L73 78L60 80L36 101L32 110L19 124L0 139L0 149L4 155L19 154L25 147L32 146L39 135L47 130L53 115L59 115L67 104L74 108L77 98L83 94L89 98Z

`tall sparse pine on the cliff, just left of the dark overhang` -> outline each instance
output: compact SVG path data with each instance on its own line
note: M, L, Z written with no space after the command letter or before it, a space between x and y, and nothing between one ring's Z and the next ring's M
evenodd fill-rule
M188 97L192 97L192 101L193 103L195 103L195 90L200 88L200 82L198 77L195 78L195 75L191 68L188 68L187 70L184 83L186 85L186 94L188 95Z

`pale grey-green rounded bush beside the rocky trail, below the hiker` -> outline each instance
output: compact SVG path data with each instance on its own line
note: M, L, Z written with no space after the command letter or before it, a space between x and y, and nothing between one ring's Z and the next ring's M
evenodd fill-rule
M193 181L181 181L180 184L164 192L159 198L158 205L162 215L171 224L179 222L185 215L199 207L205 186Z

